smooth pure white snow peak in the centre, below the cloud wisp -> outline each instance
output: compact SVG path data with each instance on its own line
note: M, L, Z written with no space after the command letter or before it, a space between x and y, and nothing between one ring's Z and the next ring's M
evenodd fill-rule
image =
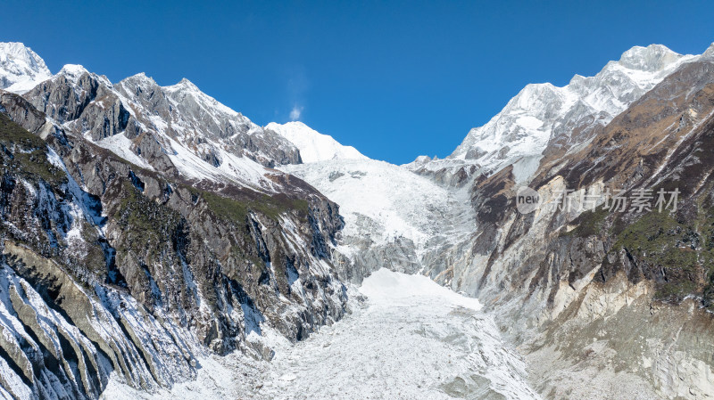
M338 143L332 136L322 135L300 121L277 124L271 122L266 130L277 132L300 150L303 162L324 161L326 159L367 159L352 146Z

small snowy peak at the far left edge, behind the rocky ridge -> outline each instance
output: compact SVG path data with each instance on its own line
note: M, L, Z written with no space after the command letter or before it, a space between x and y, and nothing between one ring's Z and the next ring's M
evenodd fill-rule
M21 94L51 76L45 61L29 47L0 42L0 89Z

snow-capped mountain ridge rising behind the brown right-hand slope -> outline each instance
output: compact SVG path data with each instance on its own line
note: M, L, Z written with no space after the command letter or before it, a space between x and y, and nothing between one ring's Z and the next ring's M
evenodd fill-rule
M514 175L525 181L549 143L549 151L564 152L573 143L586 142L589 137L578 136L580 132L606 125L677 67L697 58L664 45L635 46L594 77L576 75L562 87L527 85L486 125L471 129L449 157L418 159L406 167L437 171L477 165L479 173L489 175L515 164Z

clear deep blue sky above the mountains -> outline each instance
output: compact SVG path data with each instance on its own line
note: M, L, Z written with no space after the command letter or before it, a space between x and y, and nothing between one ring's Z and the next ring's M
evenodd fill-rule
M29 5L31 3L31 5ZM119 81L188 78L260 125L291 110L394 163L444 157L523 86L594 75L633 45L702 53L714 4L16 2L0 41Z

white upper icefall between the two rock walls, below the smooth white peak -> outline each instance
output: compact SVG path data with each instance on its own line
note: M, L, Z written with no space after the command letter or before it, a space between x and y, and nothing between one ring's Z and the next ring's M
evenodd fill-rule
M340 206L336 247L343 279L359 282L379 267L417 273L433 253L465 241L474 227L468 193L374 159L330 159L281 170Z

